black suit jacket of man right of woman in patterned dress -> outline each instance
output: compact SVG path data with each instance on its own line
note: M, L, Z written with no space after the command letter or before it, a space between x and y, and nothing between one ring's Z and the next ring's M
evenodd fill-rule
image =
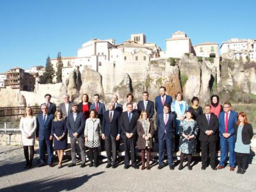
M198 122L198 127L200 130L199 140L200 141L218 141L218 130L219 130L219 121L218 117L211 113L210 115L210 125L208 125L206 115L199 115L196 119ZM213 131L213 134L208 136L205 134L206 130Z

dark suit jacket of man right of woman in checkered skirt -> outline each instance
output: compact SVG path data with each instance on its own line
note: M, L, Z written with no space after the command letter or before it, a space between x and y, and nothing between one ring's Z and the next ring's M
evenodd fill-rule
M114 111L111 122L109 121L109 110L104 113L101 125L101 133L106 137L109 137L110 135L116 137L117 134L121 134L119 111Z

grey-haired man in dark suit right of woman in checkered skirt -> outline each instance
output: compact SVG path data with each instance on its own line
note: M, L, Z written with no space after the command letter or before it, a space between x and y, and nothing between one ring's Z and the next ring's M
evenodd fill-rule
M115 103L109 103L109 110L104 113L101 134L105 140L107 152L106 168L116 168L116 141L120 140L120 112L114 110ZM112 165L111 165L111 146L112 146Z

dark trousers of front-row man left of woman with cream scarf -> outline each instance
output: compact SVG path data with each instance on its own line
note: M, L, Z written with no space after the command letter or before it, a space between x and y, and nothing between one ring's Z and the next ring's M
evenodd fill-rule
M135 161L135 140L134 139L124 139L125 145L125 166L130 165L130 159L132 166L136 165Z

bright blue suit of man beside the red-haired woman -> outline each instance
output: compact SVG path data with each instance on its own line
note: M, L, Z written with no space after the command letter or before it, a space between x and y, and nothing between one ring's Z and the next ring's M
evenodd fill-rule
M220 165L224 166L229 151L229 165L235 167L235 124L237 123L237 112L230 111L228 118L228 133L230 137L225 138L225 112L219 114L219 136L220 136Z

